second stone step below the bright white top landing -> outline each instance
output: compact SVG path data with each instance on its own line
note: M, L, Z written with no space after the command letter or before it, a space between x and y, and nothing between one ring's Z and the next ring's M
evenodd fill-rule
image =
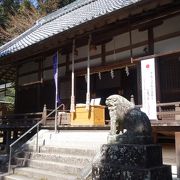
M27 159L31 160L41 160L41 161L51 161L51 162L60 162L74 165L87 165L92 162L92 157L89 156L80 156L72 154L48 154L48 153L29 153L26 152L22 157L16 157L16 163L23 165L24 161Z

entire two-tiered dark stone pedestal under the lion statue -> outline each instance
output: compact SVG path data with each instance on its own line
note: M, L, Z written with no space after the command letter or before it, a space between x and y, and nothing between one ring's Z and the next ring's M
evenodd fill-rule
M155 144L105 144L93 163L93 180L172 180L171 167L162 164Z

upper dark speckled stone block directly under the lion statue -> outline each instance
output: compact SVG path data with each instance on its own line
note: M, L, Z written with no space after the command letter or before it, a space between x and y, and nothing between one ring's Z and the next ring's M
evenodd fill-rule
M104 144L101 163L123 167L150 168L162 165L162 147L156 144Z

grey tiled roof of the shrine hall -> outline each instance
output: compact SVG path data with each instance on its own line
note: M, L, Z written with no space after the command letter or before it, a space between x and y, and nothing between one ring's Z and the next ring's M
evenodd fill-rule
M55 34L74 28L140 0L76 0L41 18L36 24L0 47L0 57L12 54Z

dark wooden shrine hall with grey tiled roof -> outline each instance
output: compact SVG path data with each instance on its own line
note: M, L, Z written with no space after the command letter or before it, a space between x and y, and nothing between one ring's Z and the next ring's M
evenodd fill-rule
M15 88L15 110L0 118L2 146L8 149L39 121L49 129L108 129L109 95L142 105L141 61L149 58L155 61L153 129L180 131L179 21L178 0L78 0L1 46L0 82ZM91 105L92 98L100 104Z

